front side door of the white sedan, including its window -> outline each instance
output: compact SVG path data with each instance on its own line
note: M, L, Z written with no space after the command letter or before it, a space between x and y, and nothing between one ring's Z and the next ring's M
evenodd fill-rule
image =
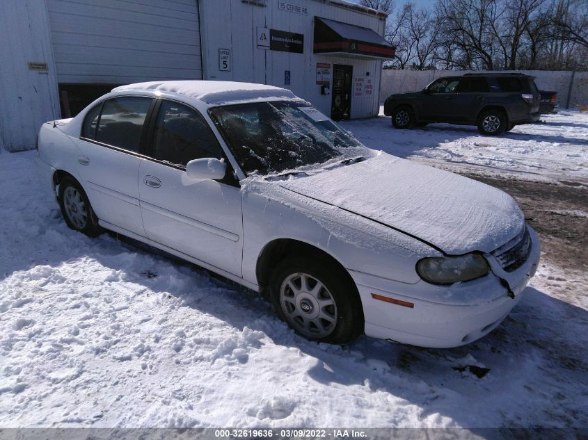
M243 222L236 179L230 170L222 181L191 179L185 171L196 158L225 158L214 133L198 111L167 99L159 101L151 125L138 179L148 238L240 277Z

